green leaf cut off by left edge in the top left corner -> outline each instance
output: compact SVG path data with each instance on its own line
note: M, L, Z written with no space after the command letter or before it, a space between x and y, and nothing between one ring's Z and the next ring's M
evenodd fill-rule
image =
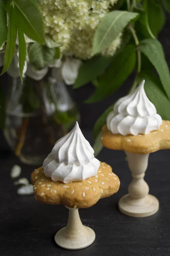
M0 47L6 41L6 37L7 37L6 11L3 8L2 3L0 2Z

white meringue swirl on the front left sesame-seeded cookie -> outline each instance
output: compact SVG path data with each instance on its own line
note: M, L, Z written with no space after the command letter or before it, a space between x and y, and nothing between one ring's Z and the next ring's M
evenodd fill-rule
M78 122L72 131L55 143L43 162L46 177L63 183L93 177L99 166L100 161L94 157L94 150L84 138Z

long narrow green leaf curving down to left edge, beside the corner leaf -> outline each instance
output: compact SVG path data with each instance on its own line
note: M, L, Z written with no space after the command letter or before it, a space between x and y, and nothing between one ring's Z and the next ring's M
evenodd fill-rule
M14 23L14 9L10 6L10 2L8 2L8 34L7 34L7 42L6 42L6 53L5 53L5 60L3 65L3 73L8 70L11 65L12 58L14 55L15 50L15 41L17 38L17 27Z

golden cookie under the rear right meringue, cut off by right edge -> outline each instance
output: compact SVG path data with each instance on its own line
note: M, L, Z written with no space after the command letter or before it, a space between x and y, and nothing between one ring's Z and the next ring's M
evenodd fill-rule
M105 125L102 129L101 142L106 148L135 154L150 154L167 149L170 148L170 121L163 120L159 130L137 136L112 134Z

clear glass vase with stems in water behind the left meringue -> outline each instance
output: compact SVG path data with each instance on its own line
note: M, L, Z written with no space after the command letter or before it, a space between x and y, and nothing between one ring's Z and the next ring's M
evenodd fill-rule
M40 81L11 78L4 135L23 163L40 166L55 142L80 121L66 84L49 70Z

